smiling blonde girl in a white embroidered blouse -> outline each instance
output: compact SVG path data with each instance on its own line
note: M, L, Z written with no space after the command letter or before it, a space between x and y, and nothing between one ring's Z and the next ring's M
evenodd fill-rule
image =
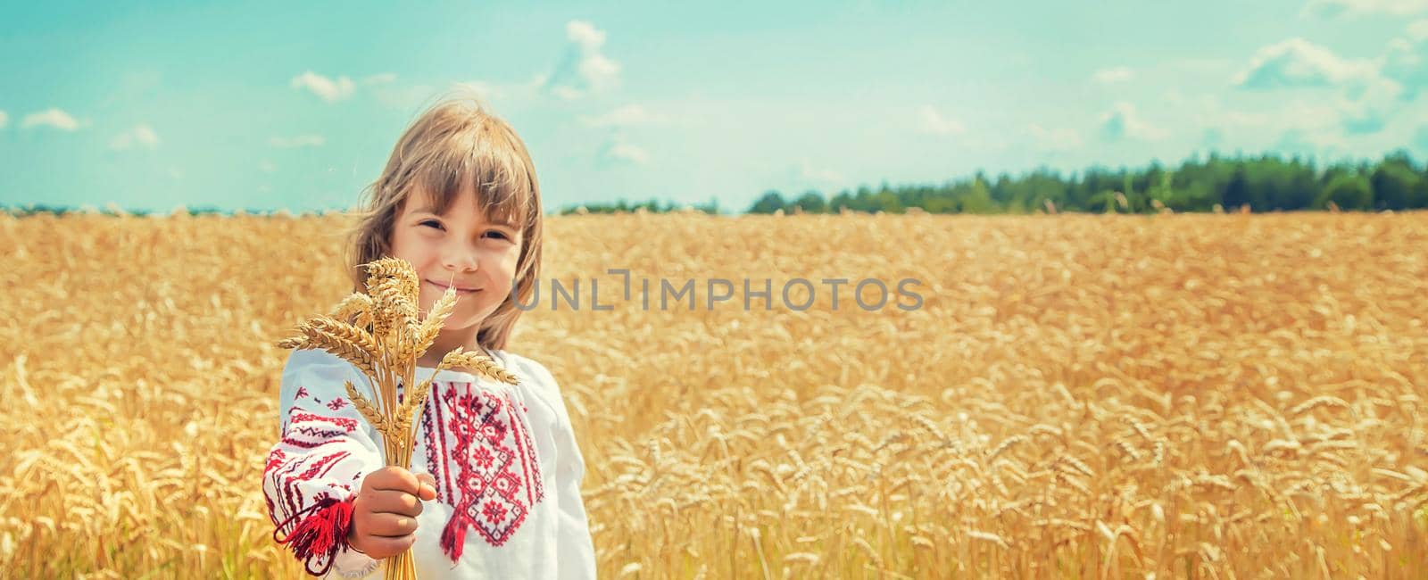
M521 314L514 300L528 303L540 270L540 187L526 146L480 104L447 100L407 129L368 193L348 247L356 289L366 287L360 264L384 256L413 264L423 313L457 289L416 380L460 346L520 383L438 373L413 416L408 471L384 467L381 440L347 400L344 380L373 396L361 371L293 351L281 440L263 470L274 540L314 576L380 576L383 559L410 546L423 579L593 579L584 460L560 389L540 363L503 350Z

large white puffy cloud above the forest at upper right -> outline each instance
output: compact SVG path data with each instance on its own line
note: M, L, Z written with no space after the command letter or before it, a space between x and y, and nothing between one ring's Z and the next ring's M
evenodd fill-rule
M1367 59L1344 59L1304 39L1259 49L1250 67L1235 76L1247 89L1329 87L1362 83L1378 74Z

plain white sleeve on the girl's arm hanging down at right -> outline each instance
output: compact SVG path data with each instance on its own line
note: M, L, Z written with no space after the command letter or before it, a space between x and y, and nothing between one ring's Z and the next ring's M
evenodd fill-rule
M555 504L558 506L558 526L555 527L555 544L560 553L561 579L594 579L595 577L595 547L590 537L590 524L585 519L585 503L580 496L580 484L585 477L585 460L575 441L575 431L570 423L570 411L565 400L560 394L555 377L544 366L533 360L526 360L530 371L527 376L536 379L538 389L550 394L555 410Z

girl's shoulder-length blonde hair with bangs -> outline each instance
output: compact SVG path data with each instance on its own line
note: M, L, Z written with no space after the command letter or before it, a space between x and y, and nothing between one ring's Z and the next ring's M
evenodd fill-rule
M413 191L426 191L434 210L444 213L463 187L473 186L487 219L516 227L523 237L511 293L516 296L507 294L477 330L480 346L503 350L521 316L516 300L528 303L540 276L540 184L526 144L480 100L447 97L411 121L381 176L363 190L357 223L348 233L347 269L353 290L366 290L361 264L388 256L393 224Z

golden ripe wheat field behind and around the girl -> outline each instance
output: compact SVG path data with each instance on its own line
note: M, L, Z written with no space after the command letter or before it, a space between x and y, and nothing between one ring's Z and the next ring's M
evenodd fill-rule
M273 341L351 291L344 226L0 217L0 576L298 576ZM601 577L1428 577L1428 213L568 216L545 257L613 306L508 347L561 383Z

